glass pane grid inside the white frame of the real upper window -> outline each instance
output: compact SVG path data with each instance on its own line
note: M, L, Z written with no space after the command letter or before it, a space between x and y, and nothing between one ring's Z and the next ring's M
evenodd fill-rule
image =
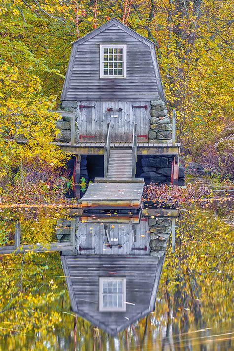
M123 48L103 48L103 75L123 75Z

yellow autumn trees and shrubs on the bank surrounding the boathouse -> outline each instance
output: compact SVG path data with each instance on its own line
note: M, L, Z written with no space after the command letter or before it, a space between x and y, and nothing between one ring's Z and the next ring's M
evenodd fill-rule
M79 4L51 0L41 5L4 1L0 12L2 203L71 201L65 194L73 181L66 170L61 171L69 157L53 144L59 116L48 111L59 109L71 42L114 16L156 44L168 116L173 109L177 114L176 136L185 169L202 177L207 174L211 182L230 184L234 179L231 8L230 0L215 4L213 0L98 1L95 8L86 0ZM18 144L18 139L28 142ZM158 192L162 188L151 195ZM169 189L166 192L171 196Z

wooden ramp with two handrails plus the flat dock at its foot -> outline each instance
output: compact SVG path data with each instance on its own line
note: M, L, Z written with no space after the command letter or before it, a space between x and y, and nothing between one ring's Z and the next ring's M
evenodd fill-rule
M104 178L95 178L81 199L84 209L138 209L142 203L143 178L135 178L137 160L136 124L132 149L111 149L110 124L104 154Z

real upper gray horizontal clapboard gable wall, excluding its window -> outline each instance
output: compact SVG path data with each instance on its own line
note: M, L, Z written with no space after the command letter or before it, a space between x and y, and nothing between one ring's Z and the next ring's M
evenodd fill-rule
M127 78L99 78L99 45L127 44ZM62 100L159 99L151 48L113 24L81 44L74 43Z

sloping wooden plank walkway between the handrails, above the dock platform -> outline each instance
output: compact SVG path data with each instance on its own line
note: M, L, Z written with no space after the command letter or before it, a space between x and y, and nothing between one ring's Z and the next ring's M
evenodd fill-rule
M107 178L132 178L132 150L113 149L110 151Z

